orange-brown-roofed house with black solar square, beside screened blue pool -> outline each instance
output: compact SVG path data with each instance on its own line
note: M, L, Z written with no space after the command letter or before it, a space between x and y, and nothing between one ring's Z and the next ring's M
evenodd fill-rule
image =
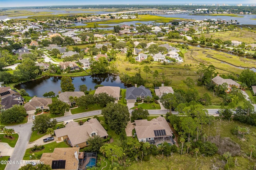
M78 148L54 148L52 153L43 153L40 162L57 170L78 170L80 156Z

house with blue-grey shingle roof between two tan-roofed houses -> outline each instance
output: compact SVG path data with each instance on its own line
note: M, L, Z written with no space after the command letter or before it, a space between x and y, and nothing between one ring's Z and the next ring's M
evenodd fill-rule
M152 98L151 91L146 89L144 86L137 88L137 84L135 84L135 87L129 87L126 89L125 99L127 103L135 103L137 98L144 99L146 96L150 96Z

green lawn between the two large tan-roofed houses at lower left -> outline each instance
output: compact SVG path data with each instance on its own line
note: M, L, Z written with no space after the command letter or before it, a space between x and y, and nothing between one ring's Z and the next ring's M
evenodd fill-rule
M44 145L44 147L45 147L45 149L43 149L43 150L31 152L31 153L30 153L30 149L27 149L23 159L30 160L29 156L32 156L33 153L36 156L36 159L40 159L43 153L49 153L49 152L51 153L51 152L53 152L54 148L67 148L68 145L66 145L66 143L64 143L64 142L60 142L60 143L53 142L53 143L48 143L48 144Z

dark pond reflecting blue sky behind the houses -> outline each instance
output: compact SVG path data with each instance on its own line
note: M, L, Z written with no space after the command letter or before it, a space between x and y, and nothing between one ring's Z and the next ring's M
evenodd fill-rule
M15 86L18 90L21 88L25 89L29 96L43 97L46 92L53 91L56 95L61 91L60 88L61 77L50 76L46 78L40 78L38 80L33 80L30 82L21 83ZM79 91L79 86L86 84L87 90L94 90L94 86L97 84L102 84L104 86L118 86L120 88L130 87L122 83L119 76L114 76L112 74L100 74L92 76L80 76L72 78L72 83L74 84L75 91Z

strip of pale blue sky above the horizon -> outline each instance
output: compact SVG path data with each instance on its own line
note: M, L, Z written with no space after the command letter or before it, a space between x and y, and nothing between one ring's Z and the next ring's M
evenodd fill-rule
M157 3L156 3L157 2ZM0 0L2 7L96 5L96 4L256 4L256 0Z

